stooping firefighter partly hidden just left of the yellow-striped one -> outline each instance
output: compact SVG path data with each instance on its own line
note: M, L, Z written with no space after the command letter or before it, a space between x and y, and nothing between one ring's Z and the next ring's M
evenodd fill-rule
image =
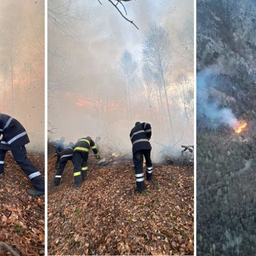
M69 143L69 146L66 146L61 153L60 160L59 160L59 167L57 168L57 172L54 179L54 185L58 186L61 175L63 174L63 170L65 169L66 164L68 161L73 162L73 152L74 152L75 144L73 142Z

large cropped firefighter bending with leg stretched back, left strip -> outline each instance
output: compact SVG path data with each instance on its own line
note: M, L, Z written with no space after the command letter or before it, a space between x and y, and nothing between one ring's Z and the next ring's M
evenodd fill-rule
M25 128L16 119L0 113L0 174L4 174L4 164L6 152L11 150L16 163L29 177L34 189L28 189L27 194L31 196L41 196L45 194L45 180L39 170L27 158L25 145L28 144L29 137ZM13 174L15 175L15 174Z

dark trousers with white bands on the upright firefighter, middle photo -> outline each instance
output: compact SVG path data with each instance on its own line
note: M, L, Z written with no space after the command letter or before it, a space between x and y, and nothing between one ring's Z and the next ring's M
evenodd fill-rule
M153 164L151 161L151 150L138 150L133 154L133 163L136 176L136 186L138 191L145 190L145 181L143 173L143 156L146 161L146 179L151 181L153 178Z

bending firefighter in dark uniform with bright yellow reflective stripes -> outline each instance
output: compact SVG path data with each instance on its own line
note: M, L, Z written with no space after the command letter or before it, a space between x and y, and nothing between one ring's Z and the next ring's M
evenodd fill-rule
M91 137L81 138L77 141L73 153L74 181L77 187L81 187L81 181L86 180L88 169L88 155L90 147L96 159L100 159L97 147Z

